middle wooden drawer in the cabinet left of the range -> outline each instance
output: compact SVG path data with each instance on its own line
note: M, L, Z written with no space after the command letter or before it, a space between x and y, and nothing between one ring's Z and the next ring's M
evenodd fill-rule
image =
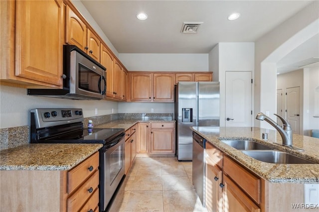
M86 181L79 188L79 190L76 191L76 193L74 193L73 195L71 195L71 197L68 198L67 200L68 211L70 212L78 211L82 207L82 205L92 196L93 192L95 190L98 190L98 186L99 186L99 171L96 171L92 175L92 177L88 181ZM98 197L98 201L99 201L99 197ZM92 210L94 210L96 206Z

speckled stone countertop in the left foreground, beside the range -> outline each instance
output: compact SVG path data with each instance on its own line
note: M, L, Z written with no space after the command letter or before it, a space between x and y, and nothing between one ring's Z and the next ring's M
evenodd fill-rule
M0 152L0 170L69 170L103 144L25 144Z

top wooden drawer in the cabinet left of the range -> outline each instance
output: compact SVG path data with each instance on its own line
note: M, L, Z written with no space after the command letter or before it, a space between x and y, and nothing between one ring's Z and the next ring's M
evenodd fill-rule
M99 167L99 152L93 154L91 157L83 161L68 172L68 189L67 192L70 194L80 184L83 183L95 170Z

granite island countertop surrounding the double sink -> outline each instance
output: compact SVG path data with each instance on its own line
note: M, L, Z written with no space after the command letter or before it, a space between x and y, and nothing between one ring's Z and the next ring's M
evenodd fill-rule
M208 142L225 152L231 158L270 183L319 183L319 164L273 164L256 160L220 140L250 139L266 144L281 151L319 163L319 139L293 134L293 145L304 152L274 144L282 143L281 136L275 130L259 127L191 127ZM262 139L262 133L268 132L268 140Z

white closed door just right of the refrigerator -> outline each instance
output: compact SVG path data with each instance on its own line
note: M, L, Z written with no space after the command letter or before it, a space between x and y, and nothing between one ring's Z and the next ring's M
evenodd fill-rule
M251 72L226 72L225 126L251 126Z

